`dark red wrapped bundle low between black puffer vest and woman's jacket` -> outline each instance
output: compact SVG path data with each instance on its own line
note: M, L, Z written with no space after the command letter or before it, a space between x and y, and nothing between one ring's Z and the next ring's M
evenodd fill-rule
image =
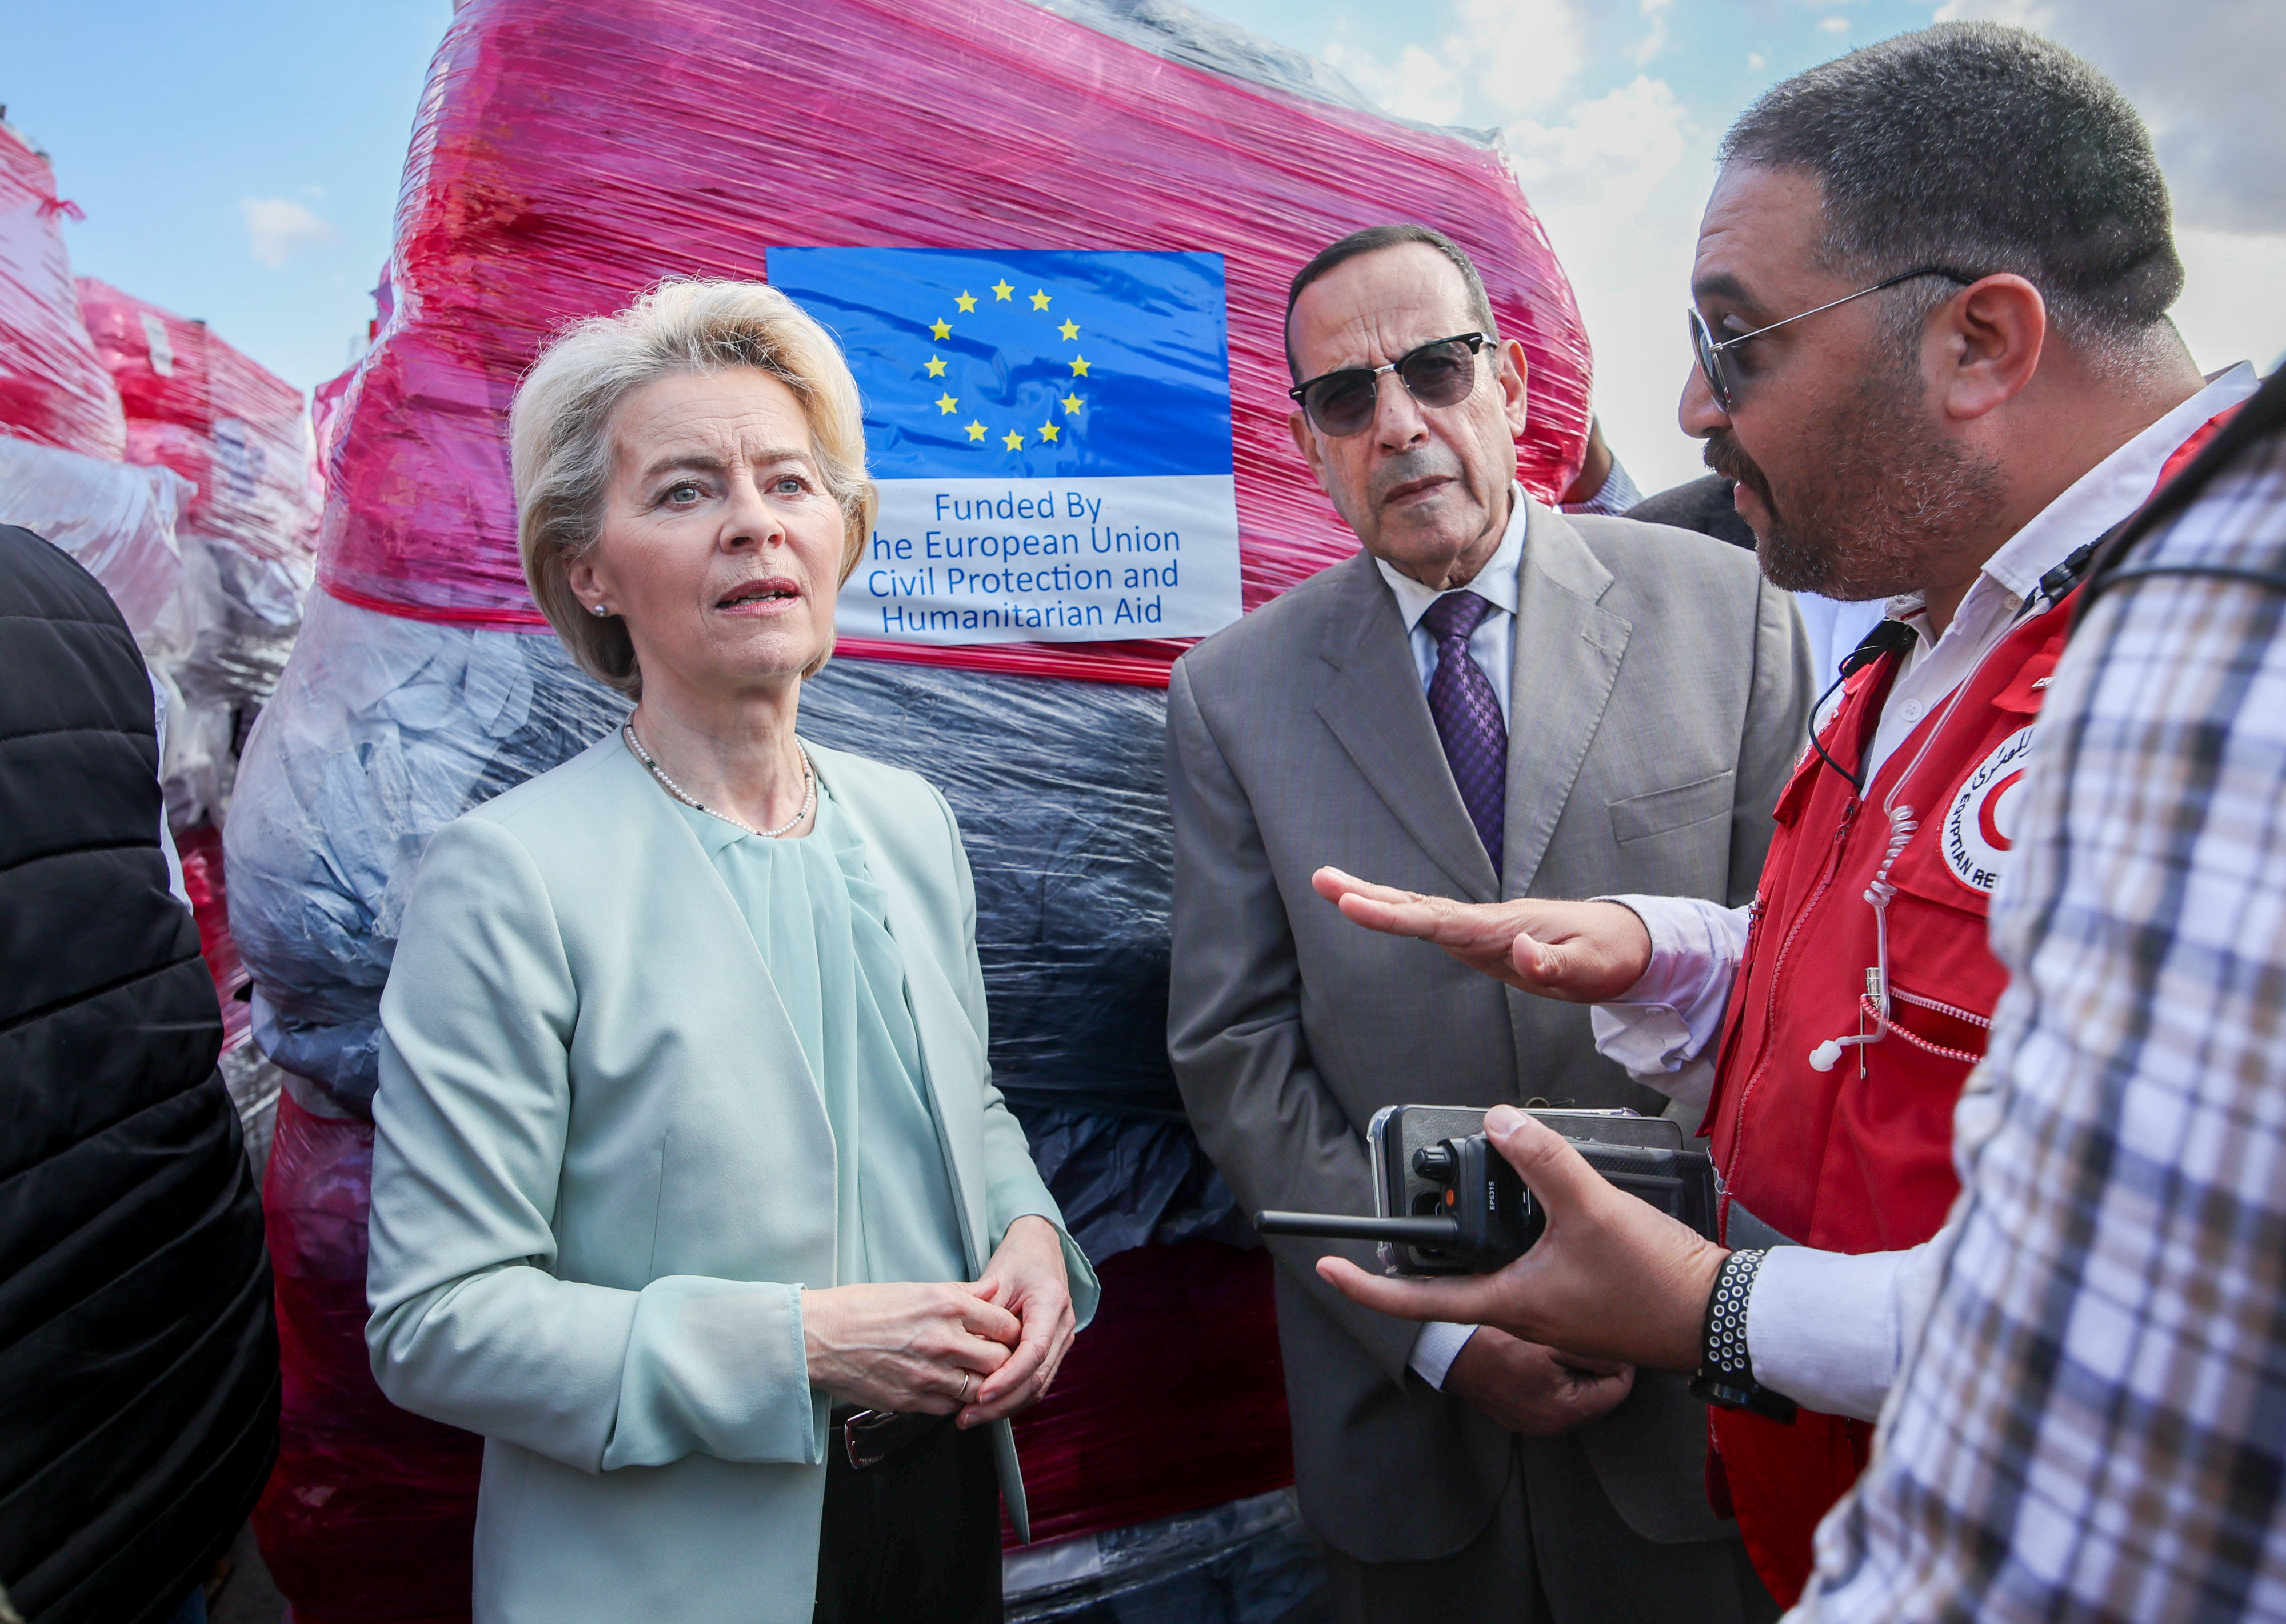
M485 1443L373 1382L370 1196L373 1123L281 1098L263 1210L283 1398L254 1537L295 1624L466 1624Z

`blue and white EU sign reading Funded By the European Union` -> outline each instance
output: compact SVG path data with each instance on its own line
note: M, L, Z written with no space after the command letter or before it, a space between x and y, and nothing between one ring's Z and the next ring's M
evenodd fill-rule
M1196 638L1239 618L1221 254L773 247L864 393L880 517L834 624Z

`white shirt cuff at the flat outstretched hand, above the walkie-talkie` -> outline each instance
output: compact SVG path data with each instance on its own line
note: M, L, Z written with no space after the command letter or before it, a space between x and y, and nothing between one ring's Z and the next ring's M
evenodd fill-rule
M1625 997L1596 1004L1596 1050L1646 1089L1682 1105L1705 1105L1731 981L1747 952L1747 910L1698 897L1598 897L1632 910L1650 931L1650 968Z

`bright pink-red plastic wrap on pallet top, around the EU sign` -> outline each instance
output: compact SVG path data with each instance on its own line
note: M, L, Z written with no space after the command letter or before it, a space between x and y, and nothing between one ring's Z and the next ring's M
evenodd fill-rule
M1477 256L1532 364L1522 478L1559 492L1584 448L1586 336L1486 146L1024 0L473 0L414 130L395 309L329 437L320 579L368 608L537 629L507 403L551 332L663 274L761 277L775 245L1198 249L1225 256L1250 608L1356 551L1287 435L1280 323L1310 254L1390 220ZM1143 682L1180 650L844 643Z

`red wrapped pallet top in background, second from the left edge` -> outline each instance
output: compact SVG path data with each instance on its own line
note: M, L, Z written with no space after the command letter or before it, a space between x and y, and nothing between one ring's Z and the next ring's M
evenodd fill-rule
M119 387L130 462L194 483L183 528L256 558L318 549L318 489L302 391L206 329L94 277L80 309Z

